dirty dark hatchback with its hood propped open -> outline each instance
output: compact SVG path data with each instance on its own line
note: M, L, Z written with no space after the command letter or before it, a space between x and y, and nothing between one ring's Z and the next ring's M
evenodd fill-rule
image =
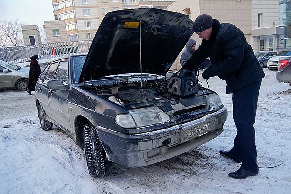
M220 135L227 109L216 92L200 87L185 98L167 92L166 72L192 27L188 15L160 9L106 14L87 56L56 59L40 75L41 128L55 124L84 148L95 177L105 175L107 161L147 166Z

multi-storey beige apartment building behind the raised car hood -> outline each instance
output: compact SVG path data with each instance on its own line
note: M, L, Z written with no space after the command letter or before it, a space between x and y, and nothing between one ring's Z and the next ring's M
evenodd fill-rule
M58 42L67 36L68 41L90 40L101 23L103 17L110 11L135 8L166 9L175 0L52 0L55 20L64 20L65 33L54 39L52 29L44 25L49 42ZM63 28L63 27L62 27Z

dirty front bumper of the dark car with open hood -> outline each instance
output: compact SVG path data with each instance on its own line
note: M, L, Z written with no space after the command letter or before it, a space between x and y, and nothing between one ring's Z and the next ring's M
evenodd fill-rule
M226 119L227 109L223 107L191 122L140 134L124 134L97 125L95 128L108 160L123 166L142 167L178 156L214 139L223 132Z

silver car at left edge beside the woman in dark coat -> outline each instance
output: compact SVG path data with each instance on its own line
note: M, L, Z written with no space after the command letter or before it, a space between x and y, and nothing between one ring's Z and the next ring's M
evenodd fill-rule
M29 68L0 60L0 88L28 90Z

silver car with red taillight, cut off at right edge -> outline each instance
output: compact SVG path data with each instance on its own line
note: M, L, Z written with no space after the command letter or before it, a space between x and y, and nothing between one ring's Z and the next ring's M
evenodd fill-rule
M278 72L276 79L279 82L288 83L291 86L291 57L282 57L278 62Z

